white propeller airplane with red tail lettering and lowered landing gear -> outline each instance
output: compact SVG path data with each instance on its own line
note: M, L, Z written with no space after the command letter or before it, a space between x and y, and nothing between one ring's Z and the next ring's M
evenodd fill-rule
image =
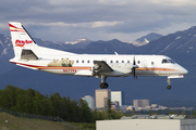
M164 76L170 90L171 78L188 73L166 55L76 54L39 47L21 23L9 22L9 26L15 54L11 63L52 74L101 78L101 89L109 87L108 77Z

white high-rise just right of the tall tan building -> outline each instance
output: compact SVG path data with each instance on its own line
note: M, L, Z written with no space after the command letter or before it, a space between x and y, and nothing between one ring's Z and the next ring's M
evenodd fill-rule
M111 102L119 102L119 106L122 106L122 92L111 91Z

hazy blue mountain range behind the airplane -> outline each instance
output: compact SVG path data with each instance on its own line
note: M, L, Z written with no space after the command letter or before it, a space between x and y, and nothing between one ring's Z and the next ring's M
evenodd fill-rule
M167 77L138 77L134 80L133 77L126 78L108 78L109 89L120 90L124 92L125 104L132 104L135 99L149 99L150 103L168 102L175 104L176 101L185 104L187 101L196 102L194 94L195 78L196 78L196 28L189 28L183 31L176 31L167 36L162 36L149 43L135 47L130 43L122 42L118 39L109 41L91 41L84 49L73 48L62 44L53 44L51 41L44 42L36 39L38 46L47 48L54 48L71 51L74 53L102 53L102 54L161 54L172 57L180 65L188 69L189 74L184 79L172 79L172 89L168 91ZM100 79L76 77L76 76L59 76L38 70L32 70L23 67L16 67L9 63L13 57L13 49L9 46L10 38L7 44L3 42L3 37L0 40L8 49L8 53L0 55L0 69L4 70L7 65L11 65L9 70L0 75L0 89L7 84L13 84L23 89L34 88L41 93L60 92L63 96L71 96L72 99L79 99L84 95L95 96L95 89L99 89ZM3 52L5 48L0 46L0 51ZM2 62L2 63L1 63ZM3 63L4 62L4 63ZM78 92L77 92L78 91ZM177 104L175 104L177 105ZM191 104L193 105L193 104Z

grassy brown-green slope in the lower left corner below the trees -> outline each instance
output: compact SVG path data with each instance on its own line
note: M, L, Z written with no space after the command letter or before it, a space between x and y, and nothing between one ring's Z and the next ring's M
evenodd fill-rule
M8 122L5 122L8 119ZM40 119L27 119L0 113L0 130L78 130L79 128L68 122L54 122Z

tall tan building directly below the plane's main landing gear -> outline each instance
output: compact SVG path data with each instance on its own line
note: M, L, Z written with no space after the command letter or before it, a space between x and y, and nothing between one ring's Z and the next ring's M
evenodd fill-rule
M96 90L96 108L107 108L109 99L111 99L111 90L109 89Z

